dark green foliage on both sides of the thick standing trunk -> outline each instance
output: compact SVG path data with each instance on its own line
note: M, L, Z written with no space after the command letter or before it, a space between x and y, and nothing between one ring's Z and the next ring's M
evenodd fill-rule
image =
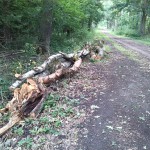
M58 0L53 1L52 5L50 45L53 51L55 48L57 51L65 47L70 50L80 44L86 37L87 30L93 24L97 25L103 17L103 6L98 0ZM13 49L24 48L25 51L34 53L38 46L43 8L41 0L1 0L0 33L4 37L2 45Z

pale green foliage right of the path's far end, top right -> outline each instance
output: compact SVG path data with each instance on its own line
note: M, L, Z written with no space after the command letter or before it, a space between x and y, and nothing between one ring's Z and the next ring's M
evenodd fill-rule
M139 37L150 33L150 0L110 0L105 5L107 28L121 35Z

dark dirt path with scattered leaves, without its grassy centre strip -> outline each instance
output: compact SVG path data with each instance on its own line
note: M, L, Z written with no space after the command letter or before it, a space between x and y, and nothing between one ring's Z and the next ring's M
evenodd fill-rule
M138 51L147 48L127 39L116 41ZM108 62L90 66L94 68L90 79L93 97L83 105L92 115L79 127L77 150L149 150L150 63L144 58L140 63L130 60L111 43L107 45L113 51ZM148 51L142 53L149 56ZM89 94L87 91L83 95Z

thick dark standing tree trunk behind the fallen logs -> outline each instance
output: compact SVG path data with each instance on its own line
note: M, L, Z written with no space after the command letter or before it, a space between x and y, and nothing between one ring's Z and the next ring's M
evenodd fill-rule
M37 53L50 53L50 37L52 34L54 0L43 0L40 18L39 47Z

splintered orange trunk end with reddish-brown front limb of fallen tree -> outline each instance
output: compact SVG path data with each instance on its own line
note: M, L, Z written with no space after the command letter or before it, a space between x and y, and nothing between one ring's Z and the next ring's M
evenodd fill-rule
M74 73L79 69L81 63L82 59L79 58L68 70L56 70L55 73L49 76L39 77L38 82L35 82L33 79L28 79L27 83L24 83L20 89L16 89L12 101L6 105L5 109L0 110L0 112L10 111L12 114L8 124L0 129L0 135L4 134L24 117L38 116L47 96L46 89L41 88L39 84L51 83L58 80L62 75Z

